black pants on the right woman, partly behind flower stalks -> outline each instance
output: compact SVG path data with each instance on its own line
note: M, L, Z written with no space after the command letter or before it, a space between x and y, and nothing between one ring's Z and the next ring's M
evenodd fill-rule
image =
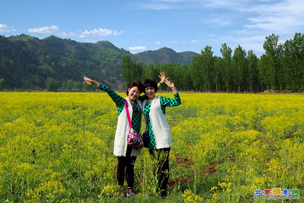
M163 149L149 149L152 158L157 160L157 174L154 170L154 175L157 175L158 189L167 190L167 184L169 180L169 148Z

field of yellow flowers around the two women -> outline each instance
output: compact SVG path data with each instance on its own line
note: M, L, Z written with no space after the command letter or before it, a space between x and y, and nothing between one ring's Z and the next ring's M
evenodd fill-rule
M168 198L157 197L147 149L135 163L138 196L121 198L113 155L118 114L107 93L1 92L0 201L282 202L254 199L266 190L302 201L304 95L180 97L180 106L167 108Z

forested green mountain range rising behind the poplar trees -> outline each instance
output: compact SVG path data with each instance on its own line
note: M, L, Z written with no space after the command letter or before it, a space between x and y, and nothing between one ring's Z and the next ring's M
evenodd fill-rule
M0 79L4 79L3 88L8 90L44 90L48 77L60 84L68 80L74 84L86 75L113 89L123 90L120 65L126 54L143 63L154 61L158 64L175 62L187 65L195 55L195 52L181 54L168 48L163 50L137 56L115 47L109 41L81 43L55 36L40 40L25 34L0 35ZM160 59L160 54L167 56L165 60Z

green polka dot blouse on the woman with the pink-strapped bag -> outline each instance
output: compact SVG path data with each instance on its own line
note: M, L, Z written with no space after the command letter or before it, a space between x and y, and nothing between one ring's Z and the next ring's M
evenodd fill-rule
M105 91L106 93L108 93L108 95L111 97L111 99L115 102L116 107L117 107L117 111L118 111L118 115L120 115L121 111L126 106L125 98L123 98L122 96L119 96L112 89L110 89L109 87L107 87L107 86L105 86L101 83L99 83L98 89L101 89L102 91ZM135 114L134 109L133 109L131 123L132 123L133 129L136 132L139 133L140 132L141 117L142 117L142 110L141 110L141 106L138 105L137 102L135 103L135 108L137 108L139 112L137 114Z

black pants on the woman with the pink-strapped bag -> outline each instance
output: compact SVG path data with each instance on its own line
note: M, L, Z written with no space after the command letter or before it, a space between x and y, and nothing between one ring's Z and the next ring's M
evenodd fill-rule
M132 147L127 146L126 156L118 156L118 165L117 165L117 181L119 185L123 185L123 182L126 180L128 187L133 187L134 183L134 163L136 156L130 156L132 152Z

